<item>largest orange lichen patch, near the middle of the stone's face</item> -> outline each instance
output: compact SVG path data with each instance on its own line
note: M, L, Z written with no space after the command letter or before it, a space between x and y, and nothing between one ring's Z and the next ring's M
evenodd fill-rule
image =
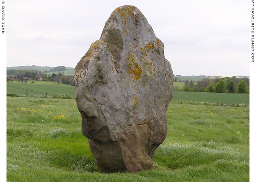
M141 78L142 69L141 66L135 62L134 56L131 54L128 58L128 74L132 74L131 78L134 78L135 80L139 80Z

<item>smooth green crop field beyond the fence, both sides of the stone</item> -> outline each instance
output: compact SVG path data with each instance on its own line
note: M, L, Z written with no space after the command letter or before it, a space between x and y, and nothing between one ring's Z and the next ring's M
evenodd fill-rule
M183 83L174 83L175 85L182 86ZM28 89L28 96L35 95L39 97L54 96L54 94L64 94L67 93L71 98L75 98L75 88L71 85L58 84L56 82L50 81L35 81L31 83L21 83L17 81L12 81L7 83L7 93L26 95L26 89ZM40 92L40 93L38 93ZM222 94L222 93L207 93L207 92L184 92L184 91L174 91L174 97L172 101L207 101L211 103L223 102L235 104L246 104L249 105L249 94Z

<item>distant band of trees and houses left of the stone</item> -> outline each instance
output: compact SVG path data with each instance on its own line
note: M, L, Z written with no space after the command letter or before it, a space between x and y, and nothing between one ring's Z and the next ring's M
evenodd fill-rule
M42 73L42 71L38 70L7 70L7 82L9 82L9 80L17 80L22 83L23 81L27 82L27 80L55 81L58 82L58 84L63 83L75 85L73 75L65 76L63 73L47 75L46 73Z

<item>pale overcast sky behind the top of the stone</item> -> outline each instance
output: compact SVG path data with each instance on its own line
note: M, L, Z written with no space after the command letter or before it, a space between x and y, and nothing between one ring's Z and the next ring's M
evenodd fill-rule
M175 75L249 76L248 0L11 0L7 66L74 68L127 4L164 43Z

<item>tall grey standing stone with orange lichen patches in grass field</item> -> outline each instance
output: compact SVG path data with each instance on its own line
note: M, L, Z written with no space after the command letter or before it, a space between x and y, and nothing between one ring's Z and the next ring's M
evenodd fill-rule
M116 8L75 67L82 133L105 172L150 169L167 134L173 72L137 7Z

